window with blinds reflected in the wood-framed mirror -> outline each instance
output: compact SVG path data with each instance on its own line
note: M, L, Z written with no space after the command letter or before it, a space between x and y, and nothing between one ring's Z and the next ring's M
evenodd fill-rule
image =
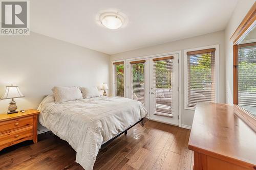
M238 105L256 117L256 43L238 46Z

